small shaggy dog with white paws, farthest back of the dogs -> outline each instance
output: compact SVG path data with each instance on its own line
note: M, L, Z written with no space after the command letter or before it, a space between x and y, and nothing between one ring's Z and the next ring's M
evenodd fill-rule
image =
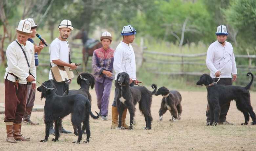
M181 94L178 91L169 91L166 87L160 87L155 93L156 96L162 95L161 107L159 110L160 121L163 119L163 114L169 110L172 114L172 119L181 119ZM177 115L178 114L178 115Z

